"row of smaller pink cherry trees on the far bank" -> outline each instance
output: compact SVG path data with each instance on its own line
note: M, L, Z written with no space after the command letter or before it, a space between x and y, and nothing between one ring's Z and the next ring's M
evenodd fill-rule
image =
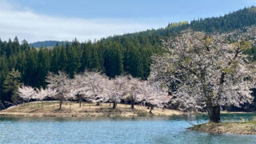
M112 102L115 108L118 102L126 99L131 109L134 109L134 103L146 103L150 106L150 113L154 106L162 107L170 102L170 96L161 86L131 76L108 78L104 74L86 71L75 74L71 79L58 71L58 74L48 74L46 81L49 85L45 90L31 86L19 87L19 96L26 102L30 99L42 101L47 97L54 98L59 101L59 109L62 109L62 102L66 100L78 100L80 106L82 100L98 105L100 102Z

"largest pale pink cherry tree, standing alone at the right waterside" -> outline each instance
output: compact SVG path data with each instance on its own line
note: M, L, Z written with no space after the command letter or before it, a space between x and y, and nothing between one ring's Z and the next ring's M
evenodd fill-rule
M255 26L228 34L185 30L163 42L167 53L153 57L151 79L169 89L181 110L206 110L220 122L221 106L251 102L255 66L244 50L255 42Z

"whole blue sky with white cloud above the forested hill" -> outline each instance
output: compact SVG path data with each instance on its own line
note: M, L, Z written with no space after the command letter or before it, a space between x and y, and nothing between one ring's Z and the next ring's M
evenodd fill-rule
M85 42L248 6L256 0L0 0L0 38Z

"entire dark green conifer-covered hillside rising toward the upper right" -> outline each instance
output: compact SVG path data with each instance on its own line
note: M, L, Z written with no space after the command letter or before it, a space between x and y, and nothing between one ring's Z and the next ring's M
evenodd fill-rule
M52 49L36 49L26 41L20 43L18 38L8 42L0 40L0 108L15 103L12 97L17 95L15 91L21 83L45 88L49 71L57 73L62 70L70 78L84 70L98 70L110 78L131 74L146 79L150 75L151 55L162 51L162 38L174 36L189 27L206 32L225 32L254 24L256 8L251 7L219 18L172 23L166 28L102 38L98 42L80 43L74 39L71 43L59 43ZM249 50L248 54L255 55L255 50Z

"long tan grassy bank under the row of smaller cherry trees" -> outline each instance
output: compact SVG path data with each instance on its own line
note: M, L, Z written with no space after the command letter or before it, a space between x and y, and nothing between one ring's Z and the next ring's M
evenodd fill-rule
M111 106L110 106L111 105ZM180 115L178 110L162 110L154 108L153 114L146 106L134 106L118 104L116 109L112 109L112 104L101 103L101 106L95 104L82 103L79 107L77 102L63 102L62 110L58 110L58 102L29 102L18 106L1 110L2 116L20 116L20 117L138 117L138 116L173 116Z

